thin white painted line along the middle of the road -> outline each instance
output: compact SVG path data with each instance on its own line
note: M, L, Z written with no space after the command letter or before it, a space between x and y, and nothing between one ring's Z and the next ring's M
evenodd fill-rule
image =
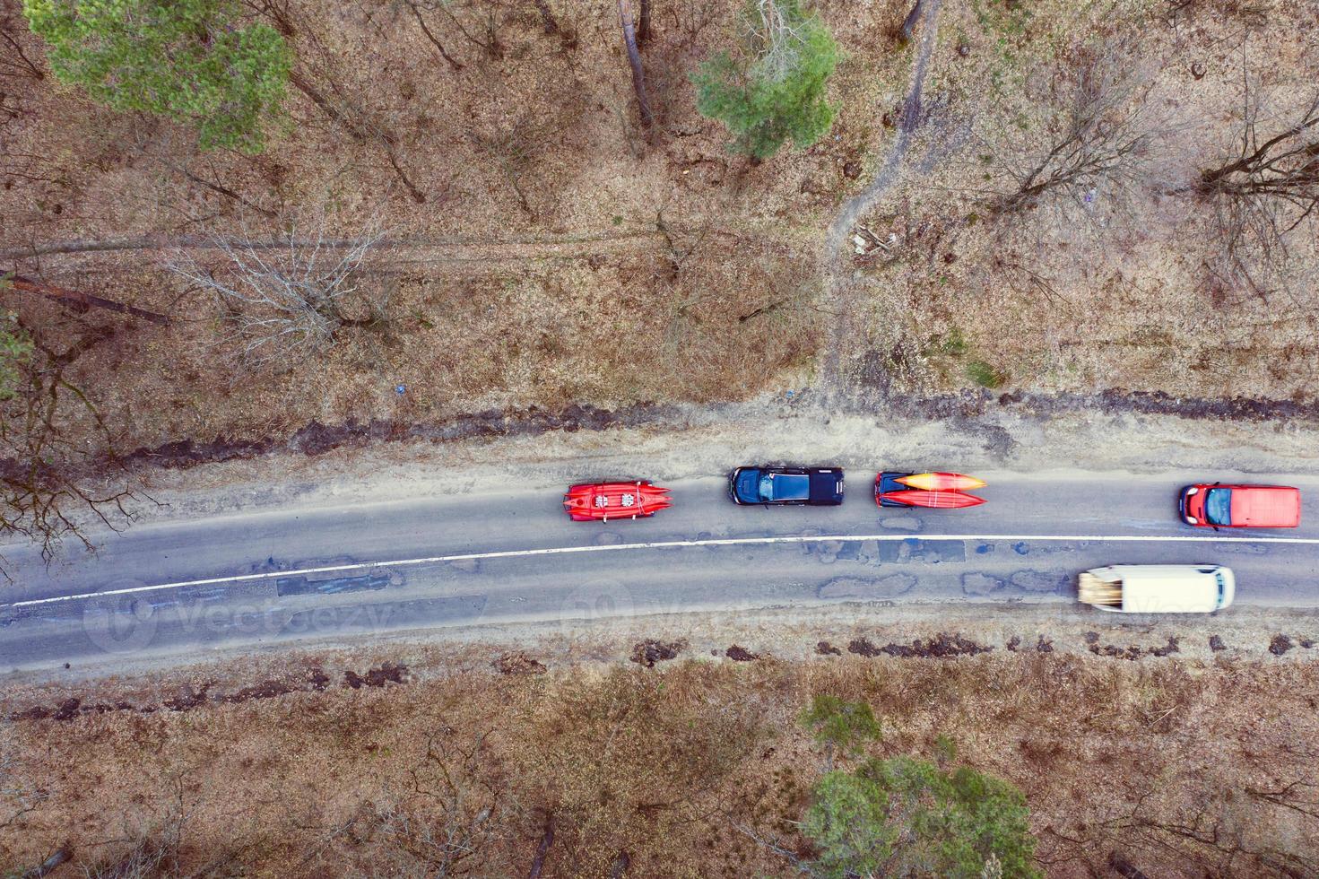
M272 570L261 574L232 574L230 577L211 577L208 579L183 579L177 583L160 583L157 586L133 586L131 589L107 589L102 593L84 593L82 595L55 595L54 598L34 598L25 602L11 602L0 604L0 610L15 607L32 607L34 604L54 604L57 602L75 602L83 598L102 598L106 595L129 595L136 593L154 593L165 589L185 589L189 586L214 586L216 583L241 583L262 579L278 579L281 577L305 577L307 574L336 574L351 570L379 570L381 568L414 568L417 565L439 565L454 561L480 561L485 558L525 558L530 556L571 556L576 553L615 553L633 549L678 549L683 546L757 546L770 544L815 544L826 540L836 540L847 544L857 544L868 540L878 542L902 542L907 540L960 540L960 541L1049 541L1049 542L1099 542L1099 544L1298 544L1319 545L1319 537L1219 537L1213 535L786 535L781 537L711 537L706 540L657 540L644 544L600 544L588 546L549 546L545 549L505 549L491 553L460 553L456 556L427 556L425 558L397 558L394 561L355 562L351 565L327 565L324 568L299 568L294 570Z

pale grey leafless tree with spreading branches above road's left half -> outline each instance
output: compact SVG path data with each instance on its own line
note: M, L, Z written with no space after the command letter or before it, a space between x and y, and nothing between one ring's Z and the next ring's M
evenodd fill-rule
M276 242L259 242L244 232L237 239L212 236L224 265L200 265L191 251L177 251L166 264L219 300L232 327L228 342L239 360L269 367L315 356L328 348L346 326L380 319L384 302L364 296L357 267L384 232L368 220L348 240L334 240L321 218L307 234L290 222Z

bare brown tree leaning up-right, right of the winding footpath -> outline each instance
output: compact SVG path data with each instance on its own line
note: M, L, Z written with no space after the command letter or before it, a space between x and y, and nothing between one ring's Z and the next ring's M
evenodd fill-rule
M1149 81L1130 59L1109 48L1080 67L1060 124L1034 149L1020 144L992 150L1009 182L991 201L996 214L1012 214L1045 199L1086 206L1096 187L1129 189L1141 179L1159 127L1145 107Z

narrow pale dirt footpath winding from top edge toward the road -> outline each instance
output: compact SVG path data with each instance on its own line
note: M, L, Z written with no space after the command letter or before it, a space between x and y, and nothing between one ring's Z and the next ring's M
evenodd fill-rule
M869 212L901 177L902 165L911 145L911 135L921 123L921 92L925 87L926 67L939 33L940 3L942 0L927 0L926 3L921 45L911 63L911 82L902 102L902 114L898 119L893 146L871 185L843 205L824 239L824 301L828 304L826 308L836 314L836 319L830 325L820 374L820 385L830 396L847 389L847 381L840 375L842 352L844 347L855 347L851 341L855 337L853 298L856 285L848 275L848 235L856 222Z

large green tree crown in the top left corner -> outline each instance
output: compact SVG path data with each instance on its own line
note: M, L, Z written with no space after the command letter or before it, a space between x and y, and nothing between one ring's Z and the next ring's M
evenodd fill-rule
M113 110L193 123L203 149L259 153L293 63L266 24L232 0L22 0L65 84Z

